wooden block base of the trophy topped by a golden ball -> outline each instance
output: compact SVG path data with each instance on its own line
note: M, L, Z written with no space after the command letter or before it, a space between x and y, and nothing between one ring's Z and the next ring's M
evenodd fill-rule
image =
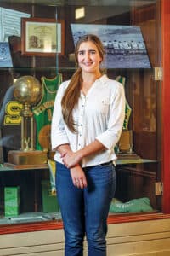
M40 150L20 151L10 150L8 152L8 163L14 166L44 166L47 165L47 153Z

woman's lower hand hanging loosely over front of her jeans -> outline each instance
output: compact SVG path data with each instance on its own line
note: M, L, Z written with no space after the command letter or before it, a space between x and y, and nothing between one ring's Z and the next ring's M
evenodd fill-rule
M73 184L79 189L84 189L88 185L85 173L80 165L71 168L71 178Z

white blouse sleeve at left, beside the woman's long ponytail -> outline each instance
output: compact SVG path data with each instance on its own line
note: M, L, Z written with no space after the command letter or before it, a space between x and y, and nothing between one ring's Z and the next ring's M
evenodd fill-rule
M59 90L57 92L57 95L54 101L54 111L53 111L53 118L52 118L52 124L51 124L52 150L57 148L59 145L69 143L67 134L65 132L65 122L64 122L62 110L61 110L61 99L64 95L65 85L66 83L64 82L59 86Z

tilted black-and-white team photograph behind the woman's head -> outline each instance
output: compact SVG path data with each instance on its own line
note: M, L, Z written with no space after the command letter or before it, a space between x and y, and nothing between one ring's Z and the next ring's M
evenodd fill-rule
M103 68L151 68L149 52L139 26L71 24L73 42L95 34L105 48Z

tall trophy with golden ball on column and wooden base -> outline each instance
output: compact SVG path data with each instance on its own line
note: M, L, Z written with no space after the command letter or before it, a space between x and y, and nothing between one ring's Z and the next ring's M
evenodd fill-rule
M23 76L14 83L14 97L23 104L21 116L21 148L8 152L8 163L14 166L47 165L47 153L34 148L34 119L31 107L42 97L42 85L32 76Z

